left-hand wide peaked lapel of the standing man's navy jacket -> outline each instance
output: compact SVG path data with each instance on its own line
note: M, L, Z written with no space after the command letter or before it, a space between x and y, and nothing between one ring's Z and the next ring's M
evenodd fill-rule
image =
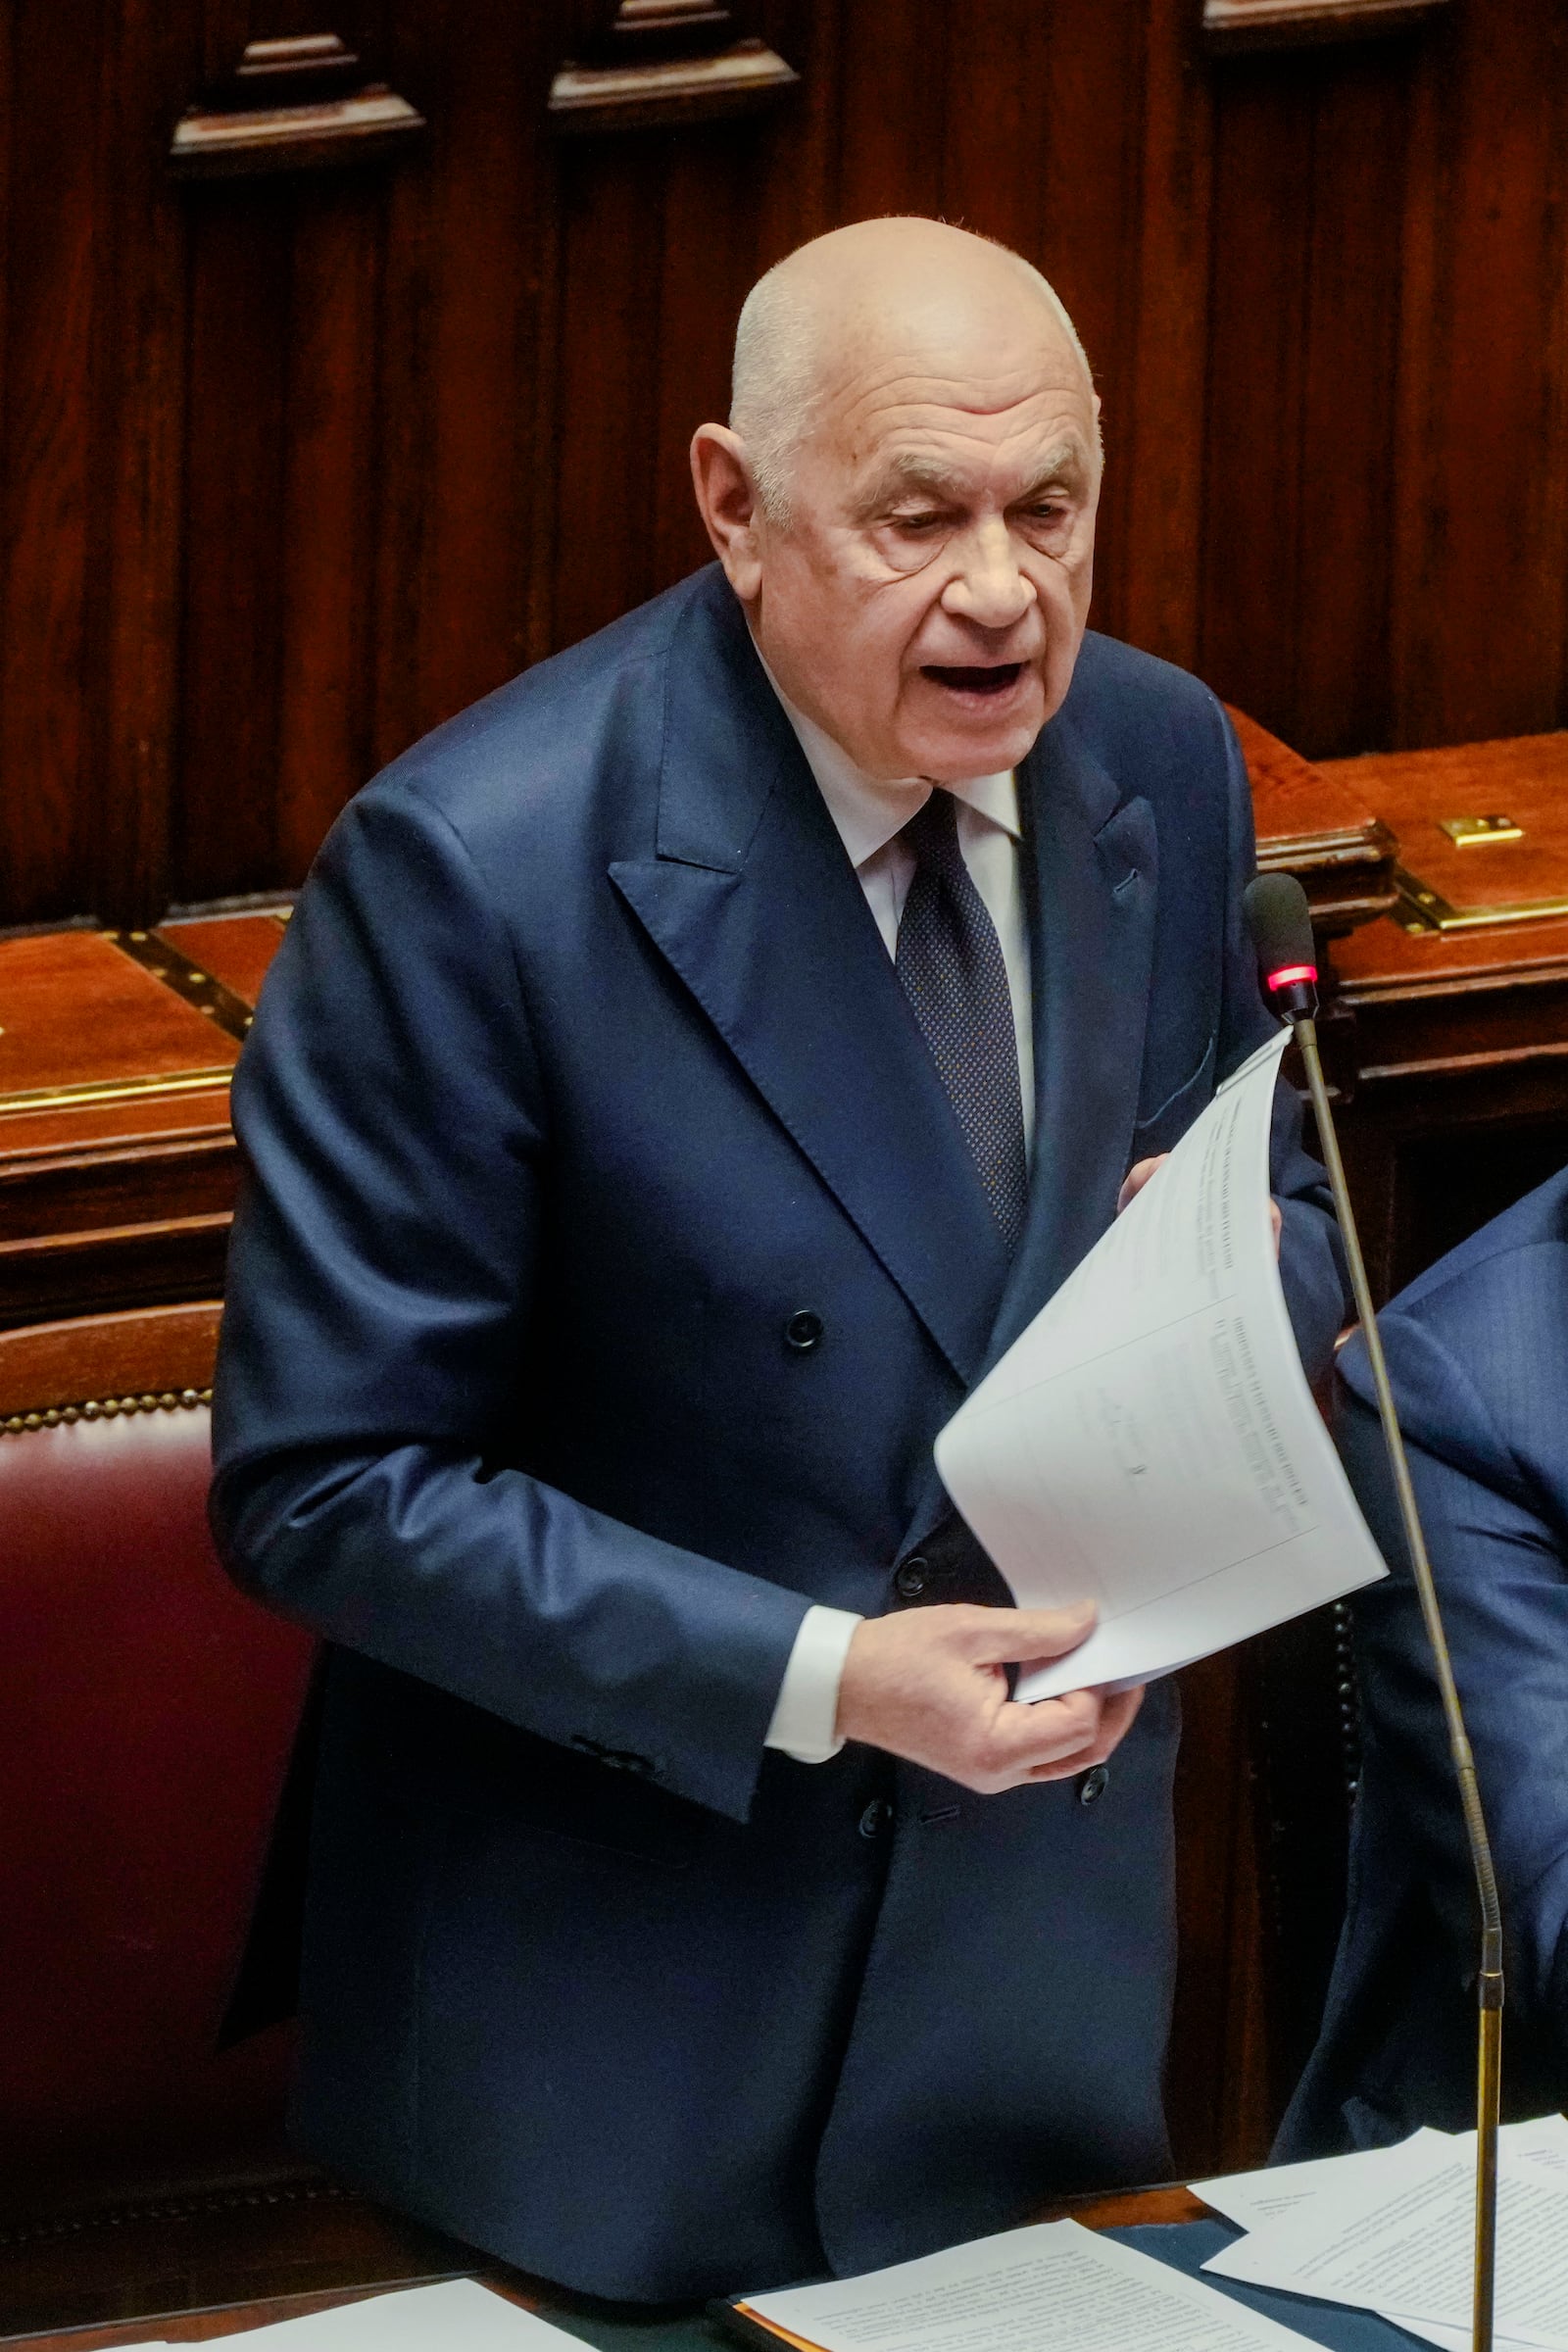
M670 652L654 858L611 866L644 931L961 1381L1004 1249L811 769L715 574Z

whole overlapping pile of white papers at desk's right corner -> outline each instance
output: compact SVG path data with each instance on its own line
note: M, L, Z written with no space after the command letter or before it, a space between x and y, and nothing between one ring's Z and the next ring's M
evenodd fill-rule
M1197 2194L1248 2237L1204 2270L1319 2296L1469 2352L1476 2140L1418 2131L1399 2147L1281 2164ZM1497 2154L1497 2352L1568 2352L1568 2122L1505 2124Z

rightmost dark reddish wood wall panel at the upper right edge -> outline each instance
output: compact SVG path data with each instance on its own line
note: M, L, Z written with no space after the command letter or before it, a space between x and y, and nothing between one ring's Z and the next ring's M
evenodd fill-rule
M1392 741L1462 743L1568 717L1568 19L1455 7L1415 96Z

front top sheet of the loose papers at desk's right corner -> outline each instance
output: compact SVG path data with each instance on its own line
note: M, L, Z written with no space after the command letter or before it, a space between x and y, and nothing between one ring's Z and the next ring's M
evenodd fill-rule
M1472 2307L1474 2154L1441 2133L1389 2150L1378 2187L1345 2176L1211 2256L1204 2270L1415 2321L1465 2328ZM1505 2154L1497 2169L1497 2333L1568 2347L1568 2190Z

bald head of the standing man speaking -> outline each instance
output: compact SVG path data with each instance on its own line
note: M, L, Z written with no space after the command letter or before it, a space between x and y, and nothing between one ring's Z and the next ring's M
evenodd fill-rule
M860 221L752 287L703 522L773 677L870 776L1013 767L1088 614L1098 402L999 245Z

